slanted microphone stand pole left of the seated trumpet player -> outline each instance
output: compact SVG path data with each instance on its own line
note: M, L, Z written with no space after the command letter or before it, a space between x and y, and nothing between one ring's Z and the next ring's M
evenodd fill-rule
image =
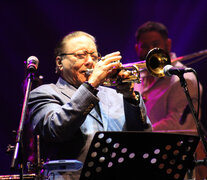
M25 96L24 96L24 103L23 103L23 107L22 107L19 129L18 129L17 137L16 137L16 145L14 147L14 155L13 155L12 163L11 163L11 169L15 169L15 167L19 163L20 179L21 180L23 179L23 171L24 171L24 169L23 169L22 133L23 133L24 121L25 121L26 114L27 114L27 105L28 105L29 93L31 91L33 78L34 78L34 73L29 72L27 75L27 86L26 86L26 92L25 92Z

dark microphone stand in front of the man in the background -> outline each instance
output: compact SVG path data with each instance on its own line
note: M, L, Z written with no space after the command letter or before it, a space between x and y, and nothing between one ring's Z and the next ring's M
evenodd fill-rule
M196 75L196 78L197 78L197 73L193 70L194 74ZM190 107L190 110L191 110L191 113L193 115L193 119L195 121L195 124L196 124L196 128L197 128L197 132L198 132L198 135L200 137L200 140L203 144L203 147L204 147L204 151L205 151L205 155L207 156L207 142L205 140L205 136L204 136L204 133L201 129L201 125L200 125L200 122L198 120L198 116L199 114L195 112L195 109L194 109L194 106L193 106L193 103L192 103L192 99L190 97L190 94L189 94L189 91L188 91L188 88L187 88L187 83L186 83L186 80L185 78L183 77L183 73L179 74L178 77L180 78L180 84L181 86L184 88L184 92L185 92L185 95L187 97L187 100L188 100L188 105ZM198 81L198 80L197 80ZM198 84L198 88L199 88L199 84ZM199 97L200 98L200 97ZM199 104L198 104L199 105ZM195 161L195 164L196 165L201 165L203 164L204 166L207 167L207 157L205 157L203 160L199 160L199 161Z

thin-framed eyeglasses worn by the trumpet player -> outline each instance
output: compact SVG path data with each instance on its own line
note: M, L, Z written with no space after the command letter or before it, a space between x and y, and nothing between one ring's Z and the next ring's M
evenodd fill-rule
M100 53L97 52L89 53L88 51L80 51L76 53L62 53L59 56L66 56L66 55L73 55L78 59L85 59L88 55L90 55L93 61L98 61L99 59L101 59Z

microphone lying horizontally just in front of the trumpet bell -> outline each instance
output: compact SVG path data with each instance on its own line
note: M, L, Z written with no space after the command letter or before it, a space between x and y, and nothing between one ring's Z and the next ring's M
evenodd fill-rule
M172 75L180 76L187 72L194 72L192 68L176 68L169 64L163 68L163 71L166 76L172 76Z

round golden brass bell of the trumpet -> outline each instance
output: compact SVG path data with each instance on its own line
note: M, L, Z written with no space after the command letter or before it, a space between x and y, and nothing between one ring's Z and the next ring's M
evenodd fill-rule
M171 64L169 54L161 48L151 49L146 56L146 67L149 73L155 77L164 77L163 68Z

